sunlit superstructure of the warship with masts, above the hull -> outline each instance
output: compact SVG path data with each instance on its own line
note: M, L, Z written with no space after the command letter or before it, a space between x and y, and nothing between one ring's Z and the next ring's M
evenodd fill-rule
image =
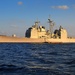
M44 26L38 26L38 21L35 24L28 28L26 31L27 38L53 38L53 39L66 39L67 38L67 31L63 27L59 27L59 29L53 32L54 22L51 19L49 21L49 30L46 30Z

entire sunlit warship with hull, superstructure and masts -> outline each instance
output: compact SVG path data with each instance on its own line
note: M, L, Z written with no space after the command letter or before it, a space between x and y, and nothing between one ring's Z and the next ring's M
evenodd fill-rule
M49 18L48 23L49 29L46 30L44 26L39 26L39 21L36 21L32 27L26 30L25 37L1 35L0 43L75 43L75 38L68 37L66 29L62 26L53 32L54 22Z

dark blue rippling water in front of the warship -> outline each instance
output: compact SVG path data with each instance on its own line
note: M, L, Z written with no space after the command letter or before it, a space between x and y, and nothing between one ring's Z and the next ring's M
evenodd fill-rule
M0 44L0 75L75 75L75 44Z

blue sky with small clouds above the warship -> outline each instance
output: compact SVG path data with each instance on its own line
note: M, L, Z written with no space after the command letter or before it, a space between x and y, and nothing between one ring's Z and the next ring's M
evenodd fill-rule
M37 19L49 29L48 18L75 36L75 0L0 0L0 35L24 37Z

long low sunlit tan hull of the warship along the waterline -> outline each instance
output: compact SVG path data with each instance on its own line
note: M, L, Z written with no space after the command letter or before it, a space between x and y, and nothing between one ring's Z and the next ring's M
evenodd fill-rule
M26 38L0 35L0 43L75 43L75 39Z

